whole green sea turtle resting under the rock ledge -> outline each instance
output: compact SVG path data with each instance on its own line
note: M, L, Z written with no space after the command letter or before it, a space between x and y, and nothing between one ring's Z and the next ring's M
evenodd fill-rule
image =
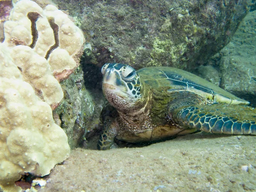
M102 67L103 93L110 103L102 111L98 149L114 139L148 142L198 130L217 134L256 134L256 109L220 87L173 67L125 64Z

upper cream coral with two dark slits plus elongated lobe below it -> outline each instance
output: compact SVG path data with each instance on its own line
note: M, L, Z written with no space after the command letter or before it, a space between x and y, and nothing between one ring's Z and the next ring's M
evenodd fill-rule
M3 44L13 47L13 59L24 80L55 109L63 98L58 81L79 66L81 30L53 5L43 10L31 0L20 0L4 23L4 36Z

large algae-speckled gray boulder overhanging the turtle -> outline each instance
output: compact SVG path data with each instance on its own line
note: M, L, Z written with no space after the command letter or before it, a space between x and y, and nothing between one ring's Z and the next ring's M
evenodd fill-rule
M92 47L86 55L90 63L187 70L230 42L251 5L251 0L54 2L83 29Z

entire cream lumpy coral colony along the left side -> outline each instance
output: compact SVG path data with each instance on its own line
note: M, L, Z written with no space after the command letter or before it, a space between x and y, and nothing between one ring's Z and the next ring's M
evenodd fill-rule
M15 192L25 173L49 174L70 154L52 109L63 98L59 81L79 65L83 34L55 6L14 4L0 43L0 191Z

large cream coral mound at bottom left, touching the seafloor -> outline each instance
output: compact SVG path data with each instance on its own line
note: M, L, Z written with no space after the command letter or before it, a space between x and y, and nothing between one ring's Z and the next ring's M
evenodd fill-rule
M0 45L0 187L6 192L21 191L14 182L27 172L48 175L70 153L52 109L23 81L11 54Z

